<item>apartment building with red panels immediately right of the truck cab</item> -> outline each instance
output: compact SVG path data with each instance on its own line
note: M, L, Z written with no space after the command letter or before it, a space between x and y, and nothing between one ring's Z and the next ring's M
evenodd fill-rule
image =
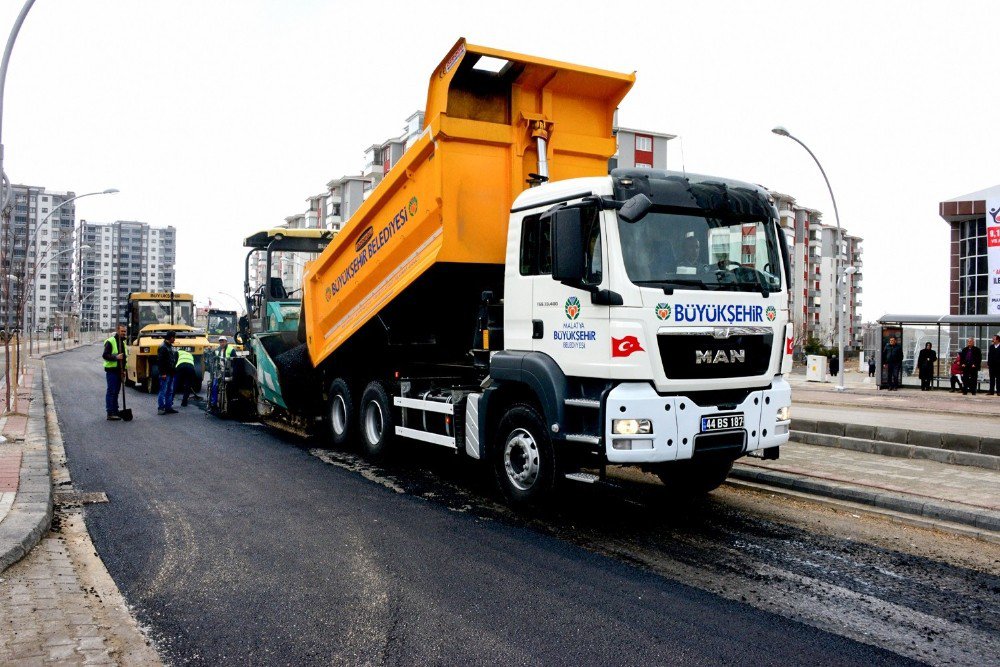
M823 223L823 214L795 202L795 198L771 192L778 208L781 226L786 230L791 250L792 276L796 281L789 295L789 308L795 330L795 351L801 353L810 339L821 345L837 344L837 273L838 251L844 267L855 269L845 280L844 349L858 349L861 331L862 239L838 231L836 225Z

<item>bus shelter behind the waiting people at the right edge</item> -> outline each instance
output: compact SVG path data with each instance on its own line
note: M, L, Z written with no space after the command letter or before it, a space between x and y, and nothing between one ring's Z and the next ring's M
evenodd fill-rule
M983 351L983 368L979 370L979 383L989 382L986 371L986 348L990 339L1000 333L1000 315L883 315L872 340L866 341L865 353L876 363L875 382L879 389L889 384L888 368L882 363L882 352L895 336L903 346L903 386L920 387L917 373L917 356L930 343L938 358L934 369L935 388L948 388L951 362L973 338ZM870 349L874 348L874 349Z

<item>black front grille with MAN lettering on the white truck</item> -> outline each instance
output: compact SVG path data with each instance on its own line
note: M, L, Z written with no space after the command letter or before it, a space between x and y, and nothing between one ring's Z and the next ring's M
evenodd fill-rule
M656 337L663 372L670 379L763 375L771 361L773 334L661 334Z

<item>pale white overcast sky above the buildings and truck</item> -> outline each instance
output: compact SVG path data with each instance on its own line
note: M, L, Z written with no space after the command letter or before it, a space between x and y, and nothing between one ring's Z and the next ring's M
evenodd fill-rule
M22 5L5 0L0 33ZM864 238L862 315L945 313L939 201L1000 183L997 2L37 0L7 77L15 183L120 194L77 219L178 230L177 288L242 293L243 237L402 131L471 43L637 72L623 126L688 171L790 194ZM2 38L2 36L0 36ZM681 140L669 167L681 167Z

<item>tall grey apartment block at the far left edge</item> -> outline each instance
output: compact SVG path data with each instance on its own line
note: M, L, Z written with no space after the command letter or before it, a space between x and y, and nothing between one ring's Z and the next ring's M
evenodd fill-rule
M14 276L8 279L10 299L2 307L3 323L48 329L69 304L76 207L65 202L76 195L32 185L11 189L10 219L0 222L2 274ZM23 304L21 312L18 304Z

